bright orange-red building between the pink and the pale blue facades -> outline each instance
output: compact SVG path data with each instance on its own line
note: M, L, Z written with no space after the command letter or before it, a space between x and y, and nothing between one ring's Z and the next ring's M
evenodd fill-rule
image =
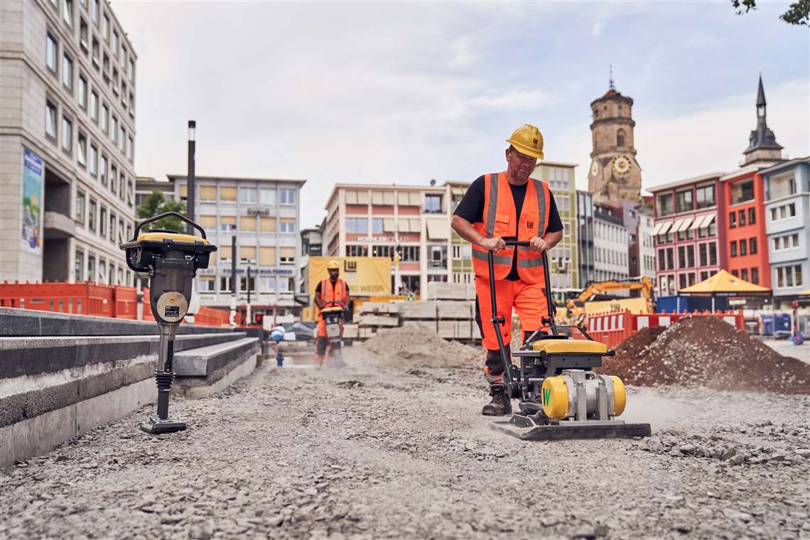
M770 288L765 233L765 183L761 164L749 165L720 178L726 213L727 270L740 279Z

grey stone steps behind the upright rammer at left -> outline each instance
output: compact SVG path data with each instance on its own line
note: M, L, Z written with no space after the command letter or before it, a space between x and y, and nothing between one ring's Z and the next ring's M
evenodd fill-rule
M202 398L248 375L259 338L183 324L173 393ZM0 308L0 466L22 461L155 402L152 321Z

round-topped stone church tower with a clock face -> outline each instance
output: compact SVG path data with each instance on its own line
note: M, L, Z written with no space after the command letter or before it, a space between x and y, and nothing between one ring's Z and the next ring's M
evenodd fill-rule
M588 191L595 202L625 199L642 202L642 168L633 146L633 98L616 91L611 70L610 88L590 104L593 151L590 152Z

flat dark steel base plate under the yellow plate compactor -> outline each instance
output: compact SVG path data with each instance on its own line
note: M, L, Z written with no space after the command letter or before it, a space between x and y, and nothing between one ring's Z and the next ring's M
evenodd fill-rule
M515 415L520 416L520 415ZM518 427L514 420L492 422L492 429L508 433L522 440L564 440L564 439L631 439L650 436L649 423L610 422L560 422L548 426Z

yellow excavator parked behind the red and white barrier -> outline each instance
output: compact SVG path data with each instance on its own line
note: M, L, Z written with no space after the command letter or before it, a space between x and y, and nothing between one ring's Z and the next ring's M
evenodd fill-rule
M614 291L639 291L640 298L621 298L616 300L603 300L591 302L598 295ZM588 306L586 307L586 303ZM589 283L579 296L569 300L565 306L566 316L575 321L587 313L597 313L609 310L629 309L631 313L655 313L653 281L642 275L637 278L612 279Z

